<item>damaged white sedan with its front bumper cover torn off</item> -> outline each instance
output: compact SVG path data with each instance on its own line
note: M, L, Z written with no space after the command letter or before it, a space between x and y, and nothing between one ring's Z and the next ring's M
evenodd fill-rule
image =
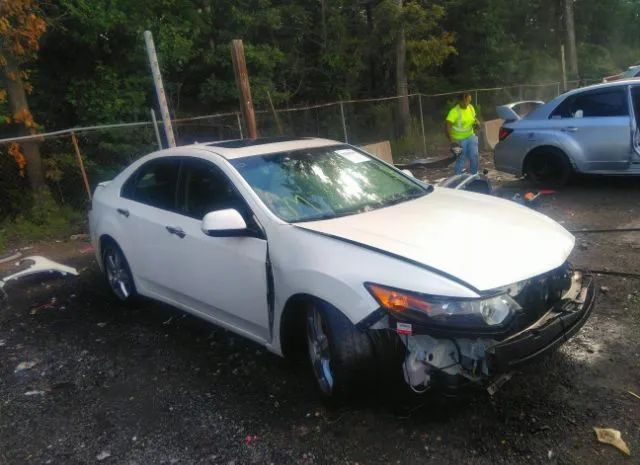
M325 139L150 154L97 188L90 227L118 298L308 354L326 395L390 364L416 391L495 390L594 302L566 262L573 236L551 219Z

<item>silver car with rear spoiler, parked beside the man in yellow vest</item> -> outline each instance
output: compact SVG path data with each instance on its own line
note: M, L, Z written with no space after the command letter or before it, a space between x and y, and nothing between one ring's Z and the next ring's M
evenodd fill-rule
M640 174L640 80L576 89L522 118L509 105L498 115L505 120L494 153L500 171L546 186L574 173Z

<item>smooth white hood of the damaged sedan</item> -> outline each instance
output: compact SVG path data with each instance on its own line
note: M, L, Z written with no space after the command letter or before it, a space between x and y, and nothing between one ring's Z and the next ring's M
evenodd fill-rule
M562 265L575 239L514 202L435 188L424 197L297 226L391 253L485 291Z

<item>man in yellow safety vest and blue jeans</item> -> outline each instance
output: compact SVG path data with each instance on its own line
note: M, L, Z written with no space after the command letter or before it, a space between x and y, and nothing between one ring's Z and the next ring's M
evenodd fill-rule
M478 173L478 137L474 129L479 126L476 110L471 105L471 94L460 95L458 104L449 110L445 120L445 133L452 146L462 149L455 164L455 173L461 174L469 160L471 174Z

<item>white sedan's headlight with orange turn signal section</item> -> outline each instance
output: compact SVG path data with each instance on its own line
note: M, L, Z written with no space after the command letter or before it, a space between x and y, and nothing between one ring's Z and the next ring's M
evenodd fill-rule
M439 297L365 284L378 303L402 320L460 329L482 329L506 323L521 307L507 293L478 299Z

